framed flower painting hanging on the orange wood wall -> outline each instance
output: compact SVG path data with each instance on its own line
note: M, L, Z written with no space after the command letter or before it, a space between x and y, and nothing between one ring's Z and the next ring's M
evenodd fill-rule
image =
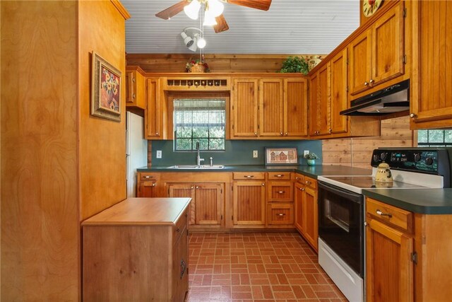
M93 51L91 115L121 122L121 71Z

